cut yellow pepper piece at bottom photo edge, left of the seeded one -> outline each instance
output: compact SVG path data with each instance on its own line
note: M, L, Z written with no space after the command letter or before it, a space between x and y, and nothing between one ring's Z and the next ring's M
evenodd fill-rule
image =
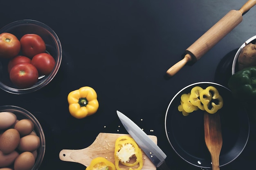
M115 170L114 163L108 161L106 158L97 157L92 159L90 165L85 170Z

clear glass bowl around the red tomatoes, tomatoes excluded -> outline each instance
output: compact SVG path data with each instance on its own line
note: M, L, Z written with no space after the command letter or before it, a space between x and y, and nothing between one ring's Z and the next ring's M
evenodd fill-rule
M10 59L0 59L0 88L12 94L27 94L45 87L57 74L62 60L62 47L56 33L49 26L35 20L12 22L0 29L1 33L11 33L20 39L25 34L37 34L45 41L46 52L54 57L56 64L47 76L39 76L38 82L29 88L19 88L11 83L7 66Z

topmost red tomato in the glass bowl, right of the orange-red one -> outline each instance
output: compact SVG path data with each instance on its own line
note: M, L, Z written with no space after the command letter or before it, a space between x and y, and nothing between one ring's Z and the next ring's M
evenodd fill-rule
M20 38L21 52L23 55L32 58L36 54L45 52L45 41L36 34L25 34Z

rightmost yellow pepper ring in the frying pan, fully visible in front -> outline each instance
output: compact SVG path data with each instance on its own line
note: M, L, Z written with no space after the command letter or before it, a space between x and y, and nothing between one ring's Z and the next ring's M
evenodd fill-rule
M213 95L211 94L211 92L213 93ZM211 102L210 98L212 98L213 100L218 100L218 104ZM211 114L216 113L223 106L223 99L220 96L218 90L213 86L207 87L200 93L200 100L204 105L205 111ZM211 107L211 109L209 107Z

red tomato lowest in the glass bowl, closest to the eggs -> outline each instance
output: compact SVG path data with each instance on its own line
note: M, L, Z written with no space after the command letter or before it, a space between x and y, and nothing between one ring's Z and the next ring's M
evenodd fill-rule
M11 69L10 80L20 88L29 88L36 84L38 71L31 63L18 63Z

